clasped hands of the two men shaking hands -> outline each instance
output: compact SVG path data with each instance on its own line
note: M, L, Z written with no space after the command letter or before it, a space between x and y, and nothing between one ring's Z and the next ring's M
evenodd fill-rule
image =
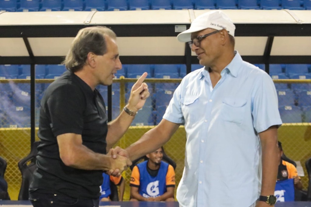
M108 175L112 175L115 177L118 177L121 175L121 173L126 170L129 166L132 165L131 160L129 160L129 154L128 151L116 147L111 148L107 155L110 156L110 169L106 171Z

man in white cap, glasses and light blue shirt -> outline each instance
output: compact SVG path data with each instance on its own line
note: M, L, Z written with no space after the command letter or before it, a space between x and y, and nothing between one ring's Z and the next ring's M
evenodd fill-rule
M185 168L177 189L183 207L274 205L282 124L276 89L266 72L234 51L234 30L223 12L211 11L178 35L204 67L182 80L160 124L119 152L133 160L154 151L184 123Z

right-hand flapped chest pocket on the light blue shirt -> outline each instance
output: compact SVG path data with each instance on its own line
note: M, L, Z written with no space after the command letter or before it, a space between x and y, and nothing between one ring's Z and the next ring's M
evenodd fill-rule
M224 121L242 124L245 117L246 99L225 98L222 101L222 118Z

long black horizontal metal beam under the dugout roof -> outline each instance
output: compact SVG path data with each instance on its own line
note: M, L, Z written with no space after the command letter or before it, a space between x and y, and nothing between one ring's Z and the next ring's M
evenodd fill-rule
M174 37L175 25L128 24L105 25L118 37ZM183 24L189 27L189 24ZM0 26L0 38L5 37L75 37L77 32L94 25L6 25ZM235 24L235 36L310 36L311 24Z

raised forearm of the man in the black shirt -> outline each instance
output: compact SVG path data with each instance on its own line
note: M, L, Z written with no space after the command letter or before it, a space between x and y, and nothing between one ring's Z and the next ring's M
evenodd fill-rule
M130 108L130 106L128 106L128 108L135 111L135 109ZM126 133L134 118L134 116L128 115L124 110L122 110L116 119L109 122L106 137L107 151L109 151L109 149L111 149Z

